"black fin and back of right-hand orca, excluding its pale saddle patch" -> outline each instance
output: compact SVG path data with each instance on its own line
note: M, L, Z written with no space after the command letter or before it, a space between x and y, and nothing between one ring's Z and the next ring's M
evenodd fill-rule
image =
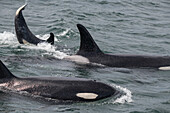
M109 67L162 67L170 66L169 56L144 56L144 55L109 55L103 53L93 40L87 29L77 24L80 32L80 49L77 55L84 56L92 63L98 63Z

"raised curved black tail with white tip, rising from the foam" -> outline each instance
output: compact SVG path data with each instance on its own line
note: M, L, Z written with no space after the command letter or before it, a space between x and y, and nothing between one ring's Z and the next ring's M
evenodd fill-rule
M30 44L34 44L34 45L37 45L38 43L41 43L41 42L48 42L51 45L53 45L54 44L54 34L53 33L50 33L50 37L47 40L42 40L42 39L37 38L29 30L29 28L25 22L25 19L22 15L22 10L24 10L26 6L27 6L27 4L18 8L18 10L16 11L16 15L15 15L15 31L16 31L16 36L17 36L18 42L20 44L30 43Z

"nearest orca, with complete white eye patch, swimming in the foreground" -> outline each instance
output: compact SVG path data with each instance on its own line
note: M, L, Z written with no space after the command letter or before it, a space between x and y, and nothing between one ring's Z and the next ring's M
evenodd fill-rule
M95 80L62 77L16 77L0 60L0 89L27 92L59 101L88 102L118 94L115 88Z

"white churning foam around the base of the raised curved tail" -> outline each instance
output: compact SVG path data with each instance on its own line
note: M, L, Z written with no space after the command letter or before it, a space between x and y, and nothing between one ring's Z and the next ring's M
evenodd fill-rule
M48 39L49 38L49 34L45 34L43 36L37 35L38 38L41 37L41 39ZM58 41L55 38L55 41ZM67 56L66 53L57 51L57 47L43 42L43 43L39 43L37 46L36 45L32 45L32 44L26 44L26 45L22 45L19 44L19 42L17 41L17 37L14 33L12 32L6 32L4 31L3 33L0 33L0 46L2 47L6 47L6 46L10 46L12 48L16 48L18 46L22 48L26 48L26 49L31 49L31 50L42 50L43 52L40 55L52 55L58 59L63 59L65 56Z

